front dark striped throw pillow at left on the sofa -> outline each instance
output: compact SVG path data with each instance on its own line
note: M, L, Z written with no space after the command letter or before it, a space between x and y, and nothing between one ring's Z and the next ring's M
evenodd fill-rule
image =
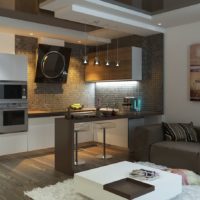
M184 128L177 123L162 123L164 136L170 141L187 141L187 134Z

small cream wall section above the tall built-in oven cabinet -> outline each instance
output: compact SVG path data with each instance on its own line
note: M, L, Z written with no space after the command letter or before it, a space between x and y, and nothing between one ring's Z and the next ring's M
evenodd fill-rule
M0 33L0 53L15 54L15 35Z

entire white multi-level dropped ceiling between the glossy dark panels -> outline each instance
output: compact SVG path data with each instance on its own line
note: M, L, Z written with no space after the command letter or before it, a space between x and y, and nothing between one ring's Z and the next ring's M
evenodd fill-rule
M111 39L128 35L164 33L167 28L200 21L200 4L157 15L106 3L101 0L47 0L40 7L55 12L55 17L102 27L86 33L24 20L0 17L0 31L49 37L87 45L110 43ZM158 26L162 23L162 27Z

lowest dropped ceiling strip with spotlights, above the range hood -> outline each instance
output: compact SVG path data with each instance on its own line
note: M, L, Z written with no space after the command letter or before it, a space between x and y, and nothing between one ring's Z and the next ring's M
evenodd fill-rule
M88 45L110 43L109 38L98 37L82 31L54 27L24 20L0 16L0 31L32 37L60 39L71 43L87 43Z

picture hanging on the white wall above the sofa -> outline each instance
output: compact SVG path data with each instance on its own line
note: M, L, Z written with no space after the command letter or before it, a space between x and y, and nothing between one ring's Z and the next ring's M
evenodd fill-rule
M200 101L200 44L190 46L190 100Z

